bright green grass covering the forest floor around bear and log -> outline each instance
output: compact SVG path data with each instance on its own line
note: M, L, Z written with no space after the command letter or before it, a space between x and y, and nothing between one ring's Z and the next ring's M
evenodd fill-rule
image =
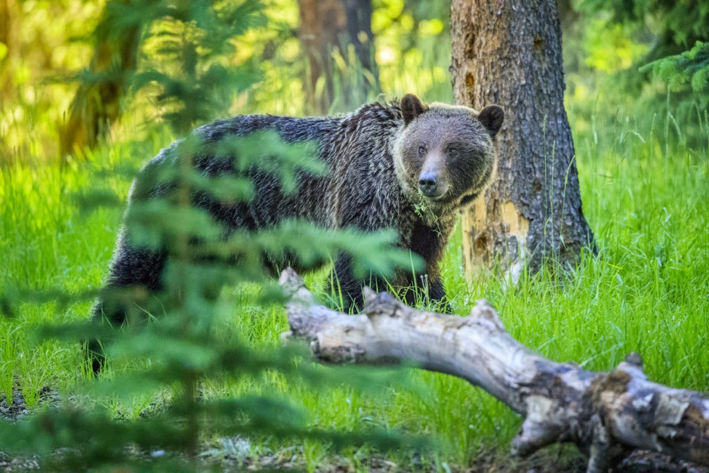
M515 338L552 360L605 370L637 351L657 382L708 391L708 149L706 140L701 149L688 148L664 121L656 118L644 127L618 121L603 130L576 133L584 213L599 252L597 257L584 255L573 274L543 271L523 278L514 289L505 289L489 274L469 284L463 277L458 231L443 269L454 311L467 313L475 299L484 297ZM687 126L704 129L706 123ZM94 164L63 172L16 163L0 167L0 291L78 293L98 287L111 258L121 209L82 213L74 196L87 188L103 188L125 199L130 173L113 169L138 167L168 142L158 133L147 144L113 145L91 157ZM324 274L308 282L322 288ZM251 317L237 317L233 307L242 297L234 288L224 291L222 304L234 314L223 324L225 336L245 337L257 347L281 343L279 335L286 331L282 309L255 307ZM40 404L45 386L73 393L84 377L79 346L38 343L31 328L49 321L83 320L90 306L90 300L68 306L26 302L14 318L0 318L0 390L11 396L16 384L30 408ZM267 372L211 382L201 389L206 397L289 394L305 409L311 425L321 428L376 425L430 434L436 449L423 455L423 462L435 462L439 468L442 462L469 464L481 449L506 451L519 428L518 416L460 379L413 369L403 374L384 371L378 379L374 391L346 385L316 389L303 382L288 384ZM116 415L120 411L121 416L137 418L164 396L169 393L113 400L108 407ZM259 455L291 446L260 438L252 439L250 449ZM308 440L296 446L293 455L303 455L312 470L329 452L327 445ZM350 467L359 468L368 455L364 448L345 457ZM407 462L411 452L392 458Z

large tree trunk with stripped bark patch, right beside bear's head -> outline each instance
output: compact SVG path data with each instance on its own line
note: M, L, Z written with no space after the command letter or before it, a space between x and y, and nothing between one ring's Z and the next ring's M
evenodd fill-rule
M525 262L573 265L593 233L564 111L556 1L453 0L451 38L457 103L506 111L497 177L462 218L467 274L493 262L513 277Z

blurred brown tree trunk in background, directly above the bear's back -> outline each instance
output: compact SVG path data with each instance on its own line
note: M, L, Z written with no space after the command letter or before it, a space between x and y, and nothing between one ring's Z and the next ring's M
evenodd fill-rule
M354 45L355 56L364 77L342 77L342 96L366 96L367 89L378 87L379 79L373 60L374 35L372 34L371 0L298 0L301 15L301 44L308 58L308 71L304 80L306 104L313 113L328 113L335 99L335 67L332 52L337 51L345 62L350 59L347 44ZM352 66L350 64L350 66ZM318 90L318 80L325 84ZM344 104L348 108L352 104Z

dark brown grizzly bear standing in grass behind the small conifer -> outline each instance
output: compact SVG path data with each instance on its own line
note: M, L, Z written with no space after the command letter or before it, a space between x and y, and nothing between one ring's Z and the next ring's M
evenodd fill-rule
M495 136L504 113L499 106L480 112L464 106L423 104L407 94L401 101L374 103L341 116L294 118L246 115L215 121L198 128L206 145L257 131L276 132L286 143L310 141L313 156L328 166L325 175L299 173L297 189L285 193L277 177L249 170L255 195L245 203L223 204L206 193L194 204L206 208L225 230L269 228L284 219L298 218L323 228L355 228L366 232L393 228L396 246L420 255L421 274L411 269L389 279L394 286L420 286L428 275L428 297L440 301L445 291L440 262L454 228L457 211L471 202L490 182L496 169ZM205 147L205 150L208 146ZM264 156L267 155L264 150ZM150 173L174 160L175 145L160 152L141 172ZM194 166L206 177L236 174L234 159L201 152ZM133 184L130 203L154 198L160 189L145 189L140 175ZM130 243L125 229L106 282L108 288L138 286L147 292L160 290L161 274L170 258L167 250L147 250ZM284 267L289 261L264 262ZM337 255L334 276L345 303L362 307L362 281L352 274L349 255ZM384 287L383 285L381 287ZM411 301L411 294L406 296ZM125 320L125 307L101 300L94 317L112 323Z

